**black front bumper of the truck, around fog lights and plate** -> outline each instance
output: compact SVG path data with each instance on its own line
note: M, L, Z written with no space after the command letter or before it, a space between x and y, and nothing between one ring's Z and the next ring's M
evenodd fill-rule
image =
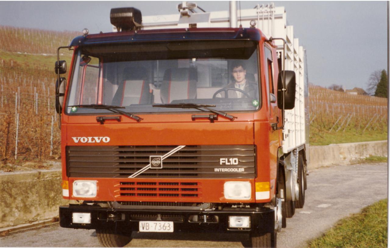
M90 213L90 224L72 222L72 213ZM250 228L229 228L229 216L250 216ZM93 205L60 206L60 226L74 229L138 231L139 221L174 221L174 232L273 232L274 211L268 208L211 211L110 209Z

